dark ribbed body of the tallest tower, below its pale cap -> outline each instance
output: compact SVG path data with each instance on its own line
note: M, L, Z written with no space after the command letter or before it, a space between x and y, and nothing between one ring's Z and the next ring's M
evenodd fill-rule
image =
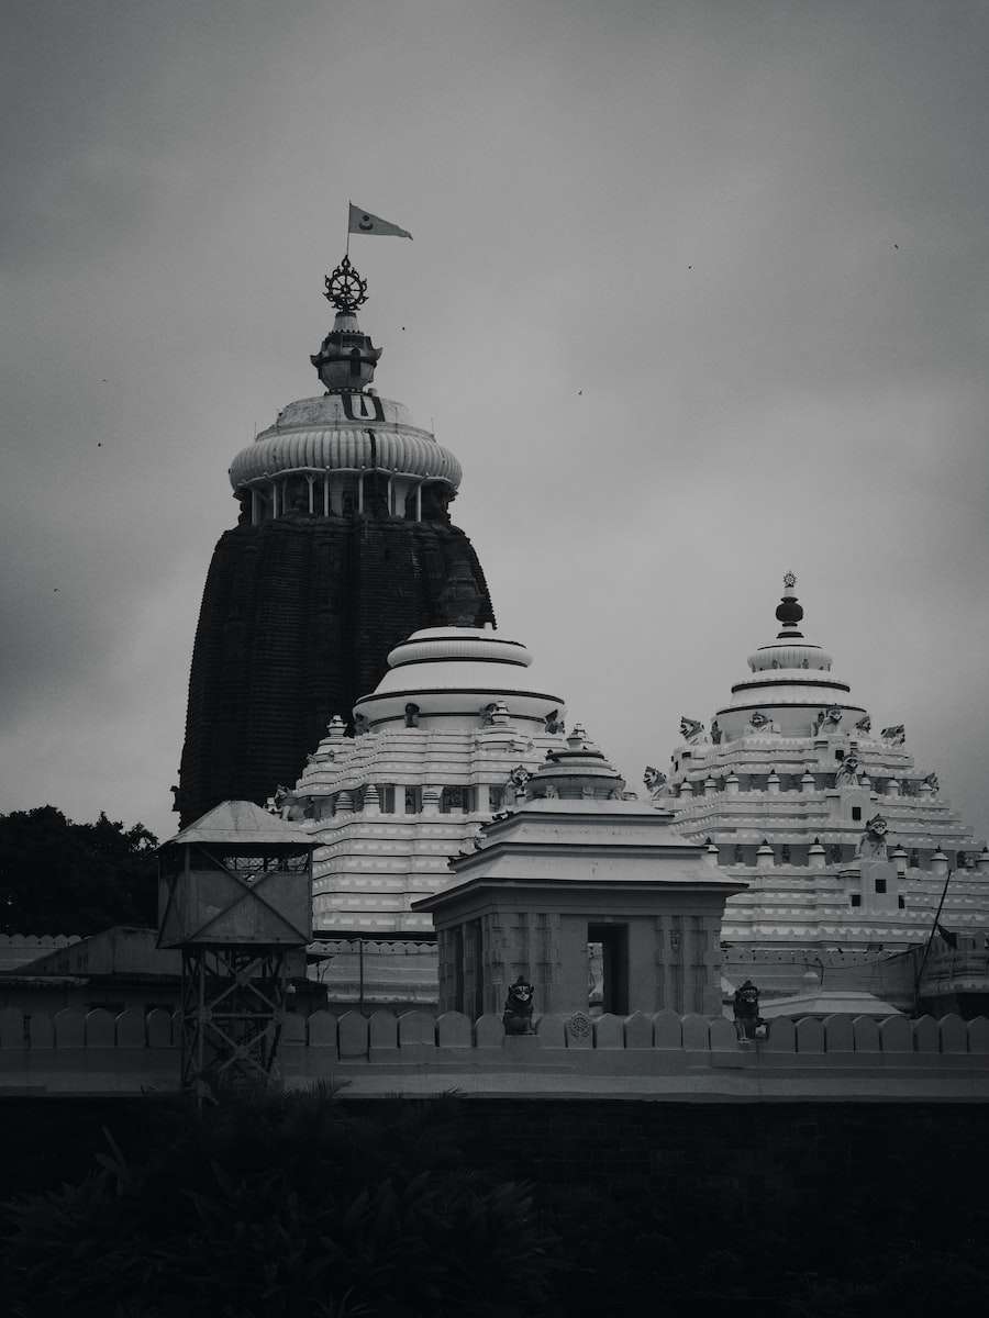
M206 580L189 683L181 820L291 787L332 714L380 681L386 655L448 619L465 564L493 622L477 555L443 521L287 517L225 531Z

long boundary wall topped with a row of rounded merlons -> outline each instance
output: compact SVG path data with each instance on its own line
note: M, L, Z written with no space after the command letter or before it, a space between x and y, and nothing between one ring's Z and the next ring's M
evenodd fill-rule
M0 1097L171 1091L179 1020L65 1008L0 1011ZM290 1015L286 1087L330 1082L344 1097L737 1098L989 1101L989 1020L960 1016L777 1019L742 1045L723 1017L545 1015L506 1037L498 1016L328 1011Z

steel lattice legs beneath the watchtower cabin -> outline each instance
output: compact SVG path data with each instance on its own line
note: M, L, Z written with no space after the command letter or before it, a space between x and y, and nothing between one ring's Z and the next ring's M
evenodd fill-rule
M280 1081L289 949L182 948L182 1085L202 1098Z

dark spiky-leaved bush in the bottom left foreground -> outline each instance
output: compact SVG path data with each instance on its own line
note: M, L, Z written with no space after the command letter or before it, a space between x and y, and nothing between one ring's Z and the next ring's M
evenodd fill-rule
M443 1104L388 1130L326 1093L107 1133L80 1185L8 1206L7 1311L166 1318L522 1313L547 1240L525 1186L460 1165Z

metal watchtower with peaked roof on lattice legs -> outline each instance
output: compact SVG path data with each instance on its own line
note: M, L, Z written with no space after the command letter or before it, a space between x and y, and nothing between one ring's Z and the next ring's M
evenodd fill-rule
M182 1083L268 1083L293 970L313 938L313 847L252 801L223 801L158 849L158 946L182 952Z

